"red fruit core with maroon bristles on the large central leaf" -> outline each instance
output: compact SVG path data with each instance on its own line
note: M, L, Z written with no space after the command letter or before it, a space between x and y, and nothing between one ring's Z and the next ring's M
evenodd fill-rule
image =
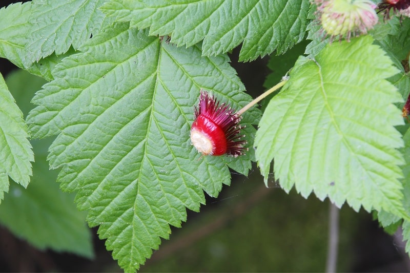
M191 127L191 142L203 155L224 154L239 156L246 150L247 143L240 140L244 135L239 125L241 117L225 103L219 103L208 92L201 89L198 108L195 107L195 121Z

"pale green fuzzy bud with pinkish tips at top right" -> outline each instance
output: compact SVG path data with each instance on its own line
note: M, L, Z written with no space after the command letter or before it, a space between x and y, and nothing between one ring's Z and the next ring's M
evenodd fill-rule
M334 37L366 34L377 24L377 7L370 0L315 0L317 16L323 30Z

